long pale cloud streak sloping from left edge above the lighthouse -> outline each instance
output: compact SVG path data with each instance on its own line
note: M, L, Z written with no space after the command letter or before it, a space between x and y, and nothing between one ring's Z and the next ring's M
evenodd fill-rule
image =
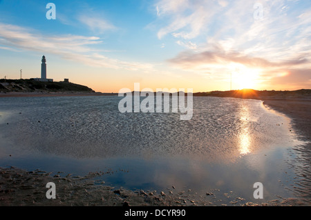
M49 52L67 60L84 63L87 66L126 70L151 70L150 63L139 63L113 59L100 54L91 46L100 45L99 37L85 37L73 34L50 36L20 26L0 23L0 45L5 50L28 50Z

